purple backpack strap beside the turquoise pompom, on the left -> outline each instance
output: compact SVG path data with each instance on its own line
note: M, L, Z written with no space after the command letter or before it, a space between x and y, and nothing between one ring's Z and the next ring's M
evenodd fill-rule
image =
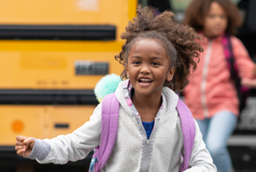
M96 147L98 168L102 170L114 148L118 134L119 102L115 94L107 94L102 100L102 135L100 145ZM97 165L96 165L97 166Z

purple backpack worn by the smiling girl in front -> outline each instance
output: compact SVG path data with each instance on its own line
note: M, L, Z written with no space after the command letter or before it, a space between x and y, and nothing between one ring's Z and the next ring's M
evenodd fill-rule
M178 114L182 123L182 134L184 142L184 157L180 171L188 168L190 154L194 146L195 125L194 118L181 99L177 105ZM102 135L99 146L94 148L94 155L90 162L90 172L98 172L106 165L108 158L114 148L118 134L119 102L115 94L107 94L102 100Z

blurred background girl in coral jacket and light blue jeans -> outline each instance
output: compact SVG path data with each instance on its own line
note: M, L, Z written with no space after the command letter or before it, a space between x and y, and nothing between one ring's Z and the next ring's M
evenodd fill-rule
M190 75L184 91L185 102L198 122L218 171L232 171L226 142L236 125L239 104L222 38L235 34L242 18L229 0L194 0L186 10L184 22L204 37L201 46L205 50L200 54L197 70ZM242 42L234 36L230 42L240 78L254 78L254 62Z

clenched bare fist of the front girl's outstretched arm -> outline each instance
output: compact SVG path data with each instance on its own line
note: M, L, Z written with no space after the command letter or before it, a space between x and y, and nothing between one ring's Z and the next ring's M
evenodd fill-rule
M23 157L29 156L34 147L34 138L26 138L18 135L16 138L15 150L17 154Z

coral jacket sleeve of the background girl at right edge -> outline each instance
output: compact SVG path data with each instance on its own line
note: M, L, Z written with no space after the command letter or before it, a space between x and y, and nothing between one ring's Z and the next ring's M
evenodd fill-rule
M231 42L233 46L234 60L238 65L238 74L240 78L256 78L253 72L255 64L250 58L246 47L236 37L231 37Z

